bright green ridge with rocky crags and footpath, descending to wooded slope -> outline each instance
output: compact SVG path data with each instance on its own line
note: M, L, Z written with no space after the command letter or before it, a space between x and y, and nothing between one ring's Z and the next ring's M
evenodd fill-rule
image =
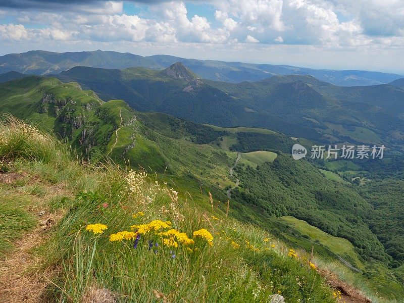
M108 70L100 72L105 74L97 73L99 79L110 75ZM151 75L167 85L188 84L184 79L167 77L162 71L136 68L113 72L116 76L135 75L144 81ZM339 257L350 266L359 266L363 272L350 273L354 278L349 281L356 280L355 285L368 289L371 295L377 292L385 298L404 297L402 260L395 252L401 247L399 237L386 241L381 238L385 231L374 228L380 216L395 204L383 201L383 211L373 216L376 201L368 200L366 191L358 192L352 183L328 180L315 163L292 160L284 153L289 153L296 141L281 133L246 127L221 128L162 113L140 113L122 100L104 102L82 87L53 77L32 76L10 81L0 85L0 111L31 121L69 142L91 165L105 165L111 158L121 167L139 169L140 166L149 174L156 173L159 183L168 182L182 192L184 201L195 207L212 207L207 203L209 191L213 194L214 208L222 216L227 212L227 190L235 187L231 191L228 216L238 224L254 223L293 249L301 247L310 251L314 246L319 258L335 262L343 271L349 272L349 267ZM307 140L297 139L297 142L305 144ZM248 153L262 150L272 152ZM237 158L235 151L241 152L241 159L231 176L229 169ZM10 169L13 168L6 164L5 170ZM353 257L351 252L341 255L330 250L327 242L299 234L297 227L285 227L277 219L284 215L303 219L330 237L349 240ZM395 232L400 233L399 226ZM124 290L127 291L134 290Z

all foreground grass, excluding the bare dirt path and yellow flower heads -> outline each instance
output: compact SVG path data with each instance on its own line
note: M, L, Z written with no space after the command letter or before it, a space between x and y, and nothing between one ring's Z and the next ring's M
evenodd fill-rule
M12 125L17 123L10 121ZM26 125L22 125L18 129L25 129ZM2 148L16 135L7 123L4 126ZM128 175L115 165L79 164L68 160L71 159L68 149L58 149L55 139L54 143L43 145L42 138L33 137L32 133L24 138L28 142L7 147L6 155L15 163L10 170L24 171L27 178L36 176L43 185L25 184L22 187L25 189L18 193L41 198L47 182L49 186L65 184L68 190L67 198L61 197L59 203L56 195L46 199L49 207L61 209L64 216L53 228L51 238L36 249L41 265L35 270L57 269L49 276L52 283L46 289L50 301L76 302L88 298L94 288L106 288L118 301L130 298L148 302L156 299L155 293L169 301L265 301L280 292L289 302L308 297L334 302L324 279L304 261L307 255L304 251L298 251L296 257L287 256L289 247L267 231L226 219L216 203L212 210L207 195L201 200L177 198L177 193L159 183L154 175L139 172ZM33 138L37 146L33 146ZM53 146L55 157L44 152L18 151L19 146L28 143L36 151ZM11 207L4 204L1 209L5 227L2 230L10 230L12 234L6 235L7 241L22 237L32 228L26 211L16 212L14 204L20 203L11 198L13 192L13 187L6 191ZM144 215L133 218L140 211ZM13 213L18 215L10 216ZM136 248L133 239L109 241L115 232L156 219L171 222L173 228L193 238L194 244L170 247L162 242L158 232L142 234ZM106 224L108 229L102 234L92 234L85 230L92 223ZM192 236L201 228L213 235L212 246L206 239ZM270 241L266 242L266 238ZM160 245L149 250L149 241ZM239 247L235 248L232 241Z

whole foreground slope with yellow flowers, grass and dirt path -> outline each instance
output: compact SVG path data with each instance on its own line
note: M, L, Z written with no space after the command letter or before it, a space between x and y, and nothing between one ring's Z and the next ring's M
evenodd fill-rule
M0 300L336 301L321 259L211 208L208 188L80 164L54 137L1 126Z

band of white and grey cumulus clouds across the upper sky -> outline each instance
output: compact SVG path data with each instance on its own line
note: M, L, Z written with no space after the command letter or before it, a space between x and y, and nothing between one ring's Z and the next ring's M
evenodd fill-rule
M404 9L399 0L201 0L198 4L209 3L210 10L192 15L186 1L134 2L147 4L145 11L124 13L122 1L4 0L0 18L6 8L15 22L8 19L0 26L0 39L323 45L336 49L401 47L404 43Z

